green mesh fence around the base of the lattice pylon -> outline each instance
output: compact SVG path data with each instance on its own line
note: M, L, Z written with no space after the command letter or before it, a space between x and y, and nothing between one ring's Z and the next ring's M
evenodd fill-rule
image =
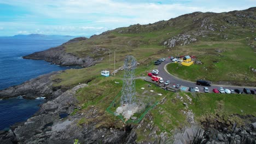
M112 101L112 103L107 107L106 111L111 113L112 115L115 115L115 113L113 111L111 111L110 109L113 107L113 105L115 104L115 101L118 99L118 97L121 96L121 92L119 92L117 94L117 96L115 96L114 100ZM122 115L117 115L117 117L119 119L121 119L121 121L123 121L124 123L139 123L148 113L148 111L152 110L154 106L156 106L158 104L158 101L156 101L152 106L148 107L148 109L146 109L142 115L138 118L138 119L129 119L128 121L125 121L124 117ZM116 115L115 115L116 116Z

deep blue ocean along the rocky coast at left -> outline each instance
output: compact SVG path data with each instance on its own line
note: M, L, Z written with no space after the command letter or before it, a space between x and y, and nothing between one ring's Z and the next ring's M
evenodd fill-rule
M59 46L73 37L0 37L0 90L19 85L39 75L51 71L65 70L62 67L45 61L23 59L30 53ZM38 109L44 100L26 100L22 97L0 98L0 130L8 130L9 126L26 121Z

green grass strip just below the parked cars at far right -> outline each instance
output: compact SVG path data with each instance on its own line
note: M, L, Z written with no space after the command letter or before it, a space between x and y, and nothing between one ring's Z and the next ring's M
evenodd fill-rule
M191 95L191 94L190 94ZM194 105L189 106L197 117L206 113L214 113L223 103L223 111L227 115L237 113L240 115L256 116L256 96L248 94L216 94L216 93L197 93L196 97L191 96Z

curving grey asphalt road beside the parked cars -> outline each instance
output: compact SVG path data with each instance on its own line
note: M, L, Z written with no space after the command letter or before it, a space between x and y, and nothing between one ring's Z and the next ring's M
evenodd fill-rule
M166 65L168 63L171 63L170 58L166 58L166 61L164 61L160 65L158 65L158 70L159 70L158 76L162 77L162 79L164 79L164 81L167 81L167 80L171 81L170 86L173 86L173 84L175 84L175 85L179 84L179 85L185 86L185 87L198 87L200 92L203 92L203 87L206 87L206 86L196 85L196 82L191 82L191 81L186 81L186 80L183 80L183 79L179 79L178 77L173 76L170 73L168 73L167 70L166 70ZM243 90L243 88L245 88L245 87L240 87L240 86L211 85L211 87L208 87L209 92L213 93L213 91L212 91L213 88L218 89L219 87L223 87L224 89L225 88L228 88L228 89L236 89L237 88L237 89L240 89L241 91ZM255 87L254 88L249 87L249 89L256 89L256 88Z

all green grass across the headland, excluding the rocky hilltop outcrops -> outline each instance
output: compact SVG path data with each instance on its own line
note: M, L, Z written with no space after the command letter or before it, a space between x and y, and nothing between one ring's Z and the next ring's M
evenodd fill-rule
M202 15L202 13L198 14L196 17L200 18ZM117 85L114 82L121 82L123 71L119 72L115 77L106 78L100 76L100 71L103 69L114 70L113 51L115 51L116 55L116 69L123 65L126 55L136 57L137 61L140 63L136 69L136 76L145 76L149 70L156 68L152 64L156 58L173 56L178 53L179 55L195 55L203 62L203 65L193 65L191 67L179 67L175 64L170 65L170 71L183 79L195 80L207 78L212 81L243 81L247 77L248 82L255 82L255 74L248 71L249 65L256 68L254 63L256 60L255 53L246 42L246 37L253 37L251 29L248 27L243 29L240 27L225 29L225 33L229 35L228 40L214 34L218 32L213 32L213 34L209 34L208 37L200 37L196 43L187 46L176 46L170 49L162 46L162 43L166 39L170 39L179 33L184 31L195 32L198 26L191 24L193 23L193 19L195 19L195 17L193 18L192 15L180 16L175 20L163 22L164 26L159 29L156 28L156 30L154 30L154 26L157 24L118 28L115 31L110 31L88 40L79 41L79 43L66 45L67 52L80 57L86 55L95 58L104 57L102 62L92 67L66 70L65 73L56 75L54 78L62 80L59 83L55 83L55 86L72 87L78 83L90 81L88 83L89 87L80 89L77 93L79 105L82 106L82 110L77 110L76 112L83 113L90 109L95 109L96 107L102 113L102 116L97 117L97 119L86 119L86 121L85 119L81 119L79 123L88 124L97 121L97 127L112 127L111 125L113 124L117 128L122 127L117 117L106 113L105 110L121 89L121 83ZM181 22L184 23L181 24ZM226 25L226 23L217 22L220 23L218 25ZM136 29L139 29L139 31L136 32ZM119 33L120 31L125 32ZM223 33L220 35L223 35ZM107 51L99 52L102 53L102 55L98 56L93 53L95 47L103 47L107 49ZM215 49L220 49L224 52L217 53ZM110 64L108 50L111 51ZM173 71L173 69L175 69L175 71ZM197 71L197 73L192 73L192 71ZM147 99L144 100L160 101L162 98L166 97L165 103L157 105L149 113L149 115L153 116L154 125L159 128L157 133L161 131L170 133L174 128L181 128L188 124L182 112L186 110L183 106L183 102L189 103L188 99L184 96L185 93L178 93L184 98L184 101L181 101L176 98L177 94L163 91L155 86L148 88L148 83L142 80L136 80L136 84L138 98L143 99L147 97ZM143 91L140 89L141 87L145 87L146 89ZM113 89L115 89L115 91L113 91ZM154 89L156 93L150 93L150 89ZM157 93L164 95L159 96ZM254 105L256 98L254 95L220 95L213 93L188 93L188 95L193 98L193 103L189 105L189 110L195 113L195 117L198 121L202 121L203 117L214 115L214 113L217 112L224 113L223 115L226 117L229 117L232 113L256 116L254 111L256 109ZM219 109L219 104L222 104L222 109ZM94 107L92 108L91 106ZM145 121L148 121L148 119L145 119ZM146 135L147 133L143 133L143 130L144 128L137 130L138 141L149 139Z

